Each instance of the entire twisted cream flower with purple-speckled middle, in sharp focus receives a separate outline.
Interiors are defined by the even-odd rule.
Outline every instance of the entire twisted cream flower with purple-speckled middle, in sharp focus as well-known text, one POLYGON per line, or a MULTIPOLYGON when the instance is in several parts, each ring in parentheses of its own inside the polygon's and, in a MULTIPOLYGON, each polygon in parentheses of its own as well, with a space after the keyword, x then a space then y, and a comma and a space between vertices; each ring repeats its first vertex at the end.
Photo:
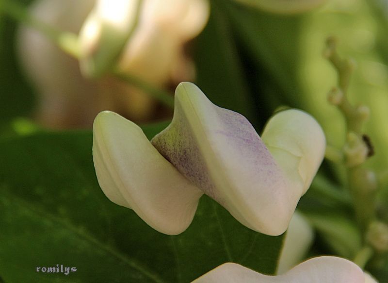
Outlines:
POLYGON ((113 202, 133 208, 162 233, 186 229, 205 193, 243 225, 279 235, 323 160, 325 138, 318 123, 299 110, 276 114, 267 127, 263 139, 268 137, 276 149, 275 158, 245 117, 214 105, 193 83, 181 83, 173 120, 152 139, 155 148, 130 121, 111 112, 97 116, 93 156, 98 182, 113 202), (279 115, 287 119, 283 128, 279 115), (318 153, 303 156, 311 153, 311 143, 318 153), (291 162, 293 171, 282 165, 291 162), (155 206, 163 207, 164 214, 157 215, 155 206), (169 218, 175 214, 185 217, 169 218), (152 220, 156 216, 160 221, 152 220))

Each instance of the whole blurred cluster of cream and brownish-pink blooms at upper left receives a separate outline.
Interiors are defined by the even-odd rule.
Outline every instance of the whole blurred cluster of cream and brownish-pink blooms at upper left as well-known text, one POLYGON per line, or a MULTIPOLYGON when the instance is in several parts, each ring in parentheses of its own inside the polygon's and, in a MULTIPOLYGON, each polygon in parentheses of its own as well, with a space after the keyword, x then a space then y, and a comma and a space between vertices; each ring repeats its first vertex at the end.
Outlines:
POLYGON ((97 76, 93 73, 96 68, 101 75, 117 66, 159 87, 193 79, 194 67, 183 47, 206 25, 210 13, 207 0, 169 0, 169 4, 143 0, 137 14, 138 2, 33 3, 32 16, 49 26, 76 34, 83 27, 79 40, 83 74, 79 62, 44 35, 26 26, 20 29, 18 53, 39 93, 37 119, 42 124, 55 128, 91 126, 102 110, 119 112, 139 122, 152 117, 155 100, 109 74, 90 79, 97 76))

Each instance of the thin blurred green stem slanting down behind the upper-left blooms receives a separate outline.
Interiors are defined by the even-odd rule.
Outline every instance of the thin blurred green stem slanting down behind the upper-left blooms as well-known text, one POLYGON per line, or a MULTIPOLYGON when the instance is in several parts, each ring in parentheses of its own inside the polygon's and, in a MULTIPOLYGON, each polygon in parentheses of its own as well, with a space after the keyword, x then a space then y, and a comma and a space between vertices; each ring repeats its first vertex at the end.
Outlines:
MULTIPOLYGON (((29 11, 17 1, 1 0, 0 9, 0 12, 5 13, 16 21, 25 23, 45 35, 67 54, 76 59, 80 58, 80 48, 77 34, 57 30, 39 19, 32 17, 29 11)), ((174 98, 167 91, 150 85, 133 75, 124 74, 118 69, 114 69, 112 73, 115 77, 138 87, 154 99, 159 100, 162 104, 174 109, 174 98)))

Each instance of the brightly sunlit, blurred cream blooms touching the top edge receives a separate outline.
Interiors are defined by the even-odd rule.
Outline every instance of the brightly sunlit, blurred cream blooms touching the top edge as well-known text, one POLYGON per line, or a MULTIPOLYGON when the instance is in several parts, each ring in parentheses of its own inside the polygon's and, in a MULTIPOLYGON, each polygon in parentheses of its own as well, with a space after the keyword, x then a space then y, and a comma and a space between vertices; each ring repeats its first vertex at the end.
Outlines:
POLYGON ((202 31, 207 0, 97 0, 80 33, 81 67, 99 76, 116 64, 160 84, 183 60, 183 45, 202 31))

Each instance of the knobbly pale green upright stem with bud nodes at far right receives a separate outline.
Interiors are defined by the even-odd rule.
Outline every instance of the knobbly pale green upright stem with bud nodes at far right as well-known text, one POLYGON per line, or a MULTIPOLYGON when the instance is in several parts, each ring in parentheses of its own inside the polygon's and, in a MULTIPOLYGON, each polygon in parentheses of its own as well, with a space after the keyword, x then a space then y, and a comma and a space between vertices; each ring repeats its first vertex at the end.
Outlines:
MULTIPOLYGON (((338 88, 331 91, 329 100, 339 107, 346 120, 348 141, 343 154, 347 164, 348 187, 358 224, 365 234, 369 223, 376 218, 375 195, 377 190, 374 172, 363 166, 369 155, 369 149, 364 142, 362 127, 368 118, 369 109, 366 106, 354 107, 347 99, 347 90, 355 63, 352 60, 341 59, 337 53, 336 44, 335 38, 329 37, 324 52, 327 59, 337 69, 339 78, 338 88)), ((329 157, 333 156, 330 148, 328 153, 329 157)))

